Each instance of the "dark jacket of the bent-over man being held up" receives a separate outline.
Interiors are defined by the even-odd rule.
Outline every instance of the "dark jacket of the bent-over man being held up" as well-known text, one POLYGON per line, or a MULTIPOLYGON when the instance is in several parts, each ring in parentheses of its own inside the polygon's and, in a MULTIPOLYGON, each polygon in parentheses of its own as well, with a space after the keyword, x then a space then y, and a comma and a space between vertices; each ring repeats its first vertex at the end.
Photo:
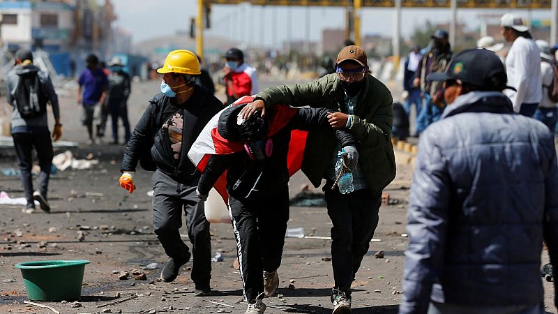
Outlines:
MULTIPOLYGON (((229 108, 219 117, 218 132, 227 140, 239 141, 239 137, 234 135, 236 126, 232 126, 232 124, 236 124, 236 114, 242 107, 243 106, 229 108)), ((289 182, 287 152, 291 140, 291 131, 295 129, 324 129, 325 132, 331 133, 330 135, 334 138, 335 134, 337 134, 337 138, 342 147, 349 145, 356 147, 356 141, 352 135, 344 131, 335 131, 329 126, 327 119, 328 112, 329 110, 325 108, 297 108, 296 114, 294 114, 288 123, 277 133, 269 137, 273 141, 273 152, 271 156, 266 158, 262 163, 250 160, 246 151, 239 151, 228 155, 212 155, 206 165, 204 174, 202 174, 202 178, 199 179, 199 192, 202 194, 209 193, 209 190, 211 190, 218 177, 220 177, 225 170, 228 170, 227 193, 236 200, 246 200, 247 193, 243 190, 234 190, 232 186, 246 170, 250 169, 250 167, 259 167, 256 174, 259 174, 260 171, 262 172, 262 178, 255 187, 258 190, 257 193, 254 193, 256 196, 255 198, 273 195, 280 188, 286 187, 289 182), (255 163, 260 164, 255 165, 255 163)), ((269 109, 266 116, 273 117, 273 108, 269 109)), ((252 186, 254 181, 255 180, 252 178, 250 186, 252 186)))

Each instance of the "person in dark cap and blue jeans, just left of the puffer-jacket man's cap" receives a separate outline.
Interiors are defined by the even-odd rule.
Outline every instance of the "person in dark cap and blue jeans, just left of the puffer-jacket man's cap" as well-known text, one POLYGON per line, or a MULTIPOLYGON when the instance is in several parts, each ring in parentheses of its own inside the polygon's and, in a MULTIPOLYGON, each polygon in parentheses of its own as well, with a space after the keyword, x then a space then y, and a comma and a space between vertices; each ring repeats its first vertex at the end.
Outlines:
POLYGON ((416 117, 416 136, 426 127, 438 121, 444 112, 446 103, 442 94, 442 86, 438 82, 428 82, 428 74, 446 69, 453 52, 448 42, 448 32, 437 29, 432 34, 434 45, 418 63, 413 80, 413 87, 420 87, 423 91, 425 104, 416 117))

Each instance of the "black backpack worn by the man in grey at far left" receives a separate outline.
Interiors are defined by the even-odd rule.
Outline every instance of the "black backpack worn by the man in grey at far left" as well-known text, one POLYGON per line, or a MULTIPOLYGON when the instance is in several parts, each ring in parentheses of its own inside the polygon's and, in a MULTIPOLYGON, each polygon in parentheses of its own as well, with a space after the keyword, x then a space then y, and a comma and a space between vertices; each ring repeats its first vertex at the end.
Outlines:
POLYGON ((47 96, 38 73, 33 71, 18 75, 20 82, 17 84, 13 98, 20 116, 23 119, 43 116, 47 112, 47 96))

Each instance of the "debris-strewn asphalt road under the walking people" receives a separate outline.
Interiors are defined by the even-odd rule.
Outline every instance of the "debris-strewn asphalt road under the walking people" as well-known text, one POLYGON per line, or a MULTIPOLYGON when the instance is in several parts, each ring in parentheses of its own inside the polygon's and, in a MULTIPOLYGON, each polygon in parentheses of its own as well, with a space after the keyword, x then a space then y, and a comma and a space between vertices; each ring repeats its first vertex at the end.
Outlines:
MULTIPOLYGON (((274 82, 262 82, 262 87, 274 82)), ((140 118, 147 101, 158 91, 158 82, 137 83, 129 102, 130 122, 140 118)), ((182 268, 173 283, 157 281, 167 256, 151 228, 150 172, 135 175, 137 190, 128 194, 119 187, 119 164, 122 146, 84 144, 85 129, 80 125, 80 107, 75 104, 75 91, 61 96, 63 140, 80 143, 73 150, 77 158, 90 156, 99 161, 89 170, 58 172, 50 184, 52 213, 40 210, 23 214, 21 206, 0 205, 0 313, 52 313, 52 311, 23 304, 27 299, 22 276, 13 267, 19 262, 34 260, 91 261, 86 265, 81 307, 71 303, 39 302, 52 306, 61 313, 96 313, 110 309, 112 313, 142 313, 156 310, 167 313, 243 313, 242 283, 239 271, 232 267, 236 257, 236 244, 232 227, 227 224, 211 225, 211 244, 214 253, 220 252, 224 260, 213 262, 212 297, 193 297, 190 266, 182 268), (80 232, 84 239, 80 241, 80 232), (157 269, 142 269, 157 263, 157 269), (133 269, 144 272, 146 280, 128 278, 119 280, 113 271, 133 269), (123 301, 139 294, 140 297, 123 301), (119 304, 104 306, 113 301, 119 304), (211 303, 218 302, 227 306, 211 303)), ((218 95, 223 98, 223 95, 218 95)), ((109 132, 110 133, 110 132, 109 132)), ((2 169, 16 167, 15 158, 4 151, 0 159, 2 169)), ((397 313, 400 303, 403 251, 407 246, 405 222, 408 188, 412 167, 398 165, 398 175, 385 190, 393 204, 382 205, 379 225, 370 251, 354 282, 353 313, 397 313), (375 258, 377 251, 384 258, 375 258)), ((303 175, 296 174, 290 183, 295 195, 306 184, 303 175)), ((12 197, 22 196, 19 177, 0 174, 0 190, 12 197)), ((331 222, 323 207, 292 207, 289 227, 303 227, 307 236, 329 237, 331 222)), ((183 227, 182 234, 186 234, 183 227)), ((187 240, 187 239, 185 239, 187 240)), ((188 242, 187 242, 188 243, 188 242)), ((331 255, 327 239, 287 238, 282 266, 279 269, 278 294, 265 300, 266 313, 331 313, 329 295, 333 285, 331 255), (289 289, 289 283, 294 288, 289 289)), ((545 260, 548 260, 543 253, 545 260)), ((131 276, 130 276, 131 277, 131 276)), ((65 280, 63 275, 60 280, 65 280)), ((552 306, 552 283, 544 283, 547 291, 545 304, 552 306)))

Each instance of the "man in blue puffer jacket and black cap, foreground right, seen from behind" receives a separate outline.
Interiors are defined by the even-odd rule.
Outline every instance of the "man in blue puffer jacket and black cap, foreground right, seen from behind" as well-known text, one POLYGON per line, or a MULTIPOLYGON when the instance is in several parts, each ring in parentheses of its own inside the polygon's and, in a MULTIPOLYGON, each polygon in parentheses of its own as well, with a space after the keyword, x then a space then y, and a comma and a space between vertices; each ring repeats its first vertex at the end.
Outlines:
POLYGON ((418 144, 399 313, 543 314, 543 240, 558 267, 552 135, 513 112, 493 52, 460 52, 428 80, 448 107, 418 144))

